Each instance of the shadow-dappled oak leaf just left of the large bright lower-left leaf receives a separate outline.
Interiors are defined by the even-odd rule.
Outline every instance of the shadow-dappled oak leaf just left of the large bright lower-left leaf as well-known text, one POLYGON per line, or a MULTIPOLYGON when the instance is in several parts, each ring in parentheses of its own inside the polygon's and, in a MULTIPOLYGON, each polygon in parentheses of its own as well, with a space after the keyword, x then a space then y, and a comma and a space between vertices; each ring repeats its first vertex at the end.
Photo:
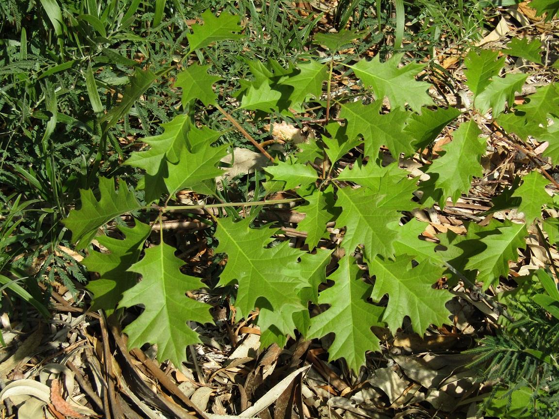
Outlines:
POLYGON ((98 236, 97 241, 109 253, 91 252, 82 261, 89 272, 99 273, 99 279, 89 281, 86 288, 93 293, 92 310, 105 310, 107 316, 115 311, 122 293, 134 287, 138 275, 127 270, 138 261, 151 226, 135 220, 135 226, 117 226, 124 239, 98 236))

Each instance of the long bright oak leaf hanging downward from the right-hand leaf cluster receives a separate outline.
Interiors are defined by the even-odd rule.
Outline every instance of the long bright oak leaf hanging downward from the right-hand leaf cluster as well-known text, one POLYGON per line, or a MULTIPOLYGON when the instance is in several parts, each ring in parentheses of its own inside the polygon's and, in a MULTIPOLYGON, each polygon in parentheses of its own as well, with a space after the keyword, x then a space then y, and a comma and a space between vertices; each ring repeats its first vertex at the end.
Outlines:
POLYGON ((439 156, 428 166, 431 176, 423 182, 425 191, 433 196, 435 189, 440 189, 438 202, 444 207, 447 197, 456 202, 460 195, 470 189, 473 177, 481 177, 481 156, 485 153, 486 140, 480 138, 480 128, 475 121, 462 123, 452 136, 452 141, 444 145, 446 153, 439 156), (459 162, 459 164, 458 164, 459 162))

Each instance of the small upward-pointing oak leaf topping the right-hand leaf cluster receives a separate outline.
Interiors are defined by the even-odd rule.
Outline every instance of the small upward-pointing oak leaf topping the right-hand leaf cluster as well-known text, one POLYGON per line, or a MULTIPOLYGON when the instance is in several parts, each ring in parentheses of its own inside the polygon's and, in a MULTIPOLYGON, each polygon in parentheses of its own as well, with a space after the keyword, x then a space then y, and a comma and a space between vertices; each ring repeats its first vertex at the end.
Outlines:
POLYGON ((498 51, 480 50, 477 53, 470 50, 466 55, 466 67, 464 74, 468 81, 466 85, 476 96, 484 91, 491 83, 491 78, 499 75, 501 68, 505 65, 505 58, 498 58, 498 51))

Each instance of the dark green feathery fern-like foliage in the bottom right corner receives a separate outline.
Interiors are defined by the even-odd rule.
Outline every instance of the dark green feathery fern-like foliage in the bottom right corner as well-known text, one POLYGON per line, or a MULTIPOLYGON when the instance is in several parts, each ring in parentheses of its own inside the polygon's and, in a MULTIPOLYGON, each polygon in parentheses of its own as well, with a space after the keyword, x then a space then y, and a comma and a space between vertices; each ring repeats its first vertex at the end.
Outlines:
POLYGON ((505 323, 495 336, 484 337, 468 351, 477 355, 469 365, 478 371, 477 379, 492 385, 480 408, 503 418, 557 418, 559 319, 532 296, 517 294, 506 299, 517 321, 505 323))

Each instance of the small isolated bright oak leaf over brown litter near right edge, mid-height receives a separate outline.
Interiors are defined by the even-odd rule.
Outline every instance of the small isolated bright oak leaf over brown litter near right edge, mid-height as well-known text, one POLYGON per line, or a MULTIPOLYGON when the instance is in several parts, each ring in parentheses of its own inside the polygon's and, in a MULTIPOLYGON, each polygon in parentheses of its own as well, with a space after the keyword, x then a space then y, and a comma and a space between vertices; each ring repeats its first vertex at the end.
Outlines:
POLYGON ((553 204, 553 199, 546 192, 549 180, 541 173, 533 170, 522 180, 522 185, 514 191, 512 198, 522 199, 518 211, 524 213, 526 224, 530 225, 536 218, 542 217, 542 206, 553 204))

